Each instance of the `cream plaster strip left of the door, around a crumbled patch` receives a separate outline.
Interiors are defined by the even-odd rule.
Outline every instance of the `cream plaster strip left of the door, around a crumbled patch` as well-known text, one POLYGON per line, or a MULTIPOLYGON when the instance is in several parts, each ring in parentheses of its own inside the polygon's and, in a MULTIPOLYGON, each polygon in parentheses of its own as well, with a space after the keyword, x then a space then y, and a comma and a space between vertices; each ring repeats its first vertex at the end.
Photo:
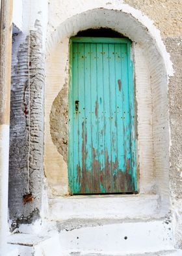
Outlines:
MULTIPOLYGON (((46 86, 45 86, 45 155, 44 167, 45 176, 49 181, 50 193, 52 195, 64 195, 68 193, 68 171, 63 153, 60 155, 57 141, 62 138, 62 127, 66 125, 66 120, 62 122, 54 119, 54 116, 62 116, 62 105, 68 106, 68 39, 64 39, 53 50, 51 56, 46 61, 46 86), (61 57, 60 57, 61 56, 61 57), (64 99, 59 99, 60 91, 66 86, 64 99), (51 122, 50 123, 50 118, 51 122), (50 125, 55 126, 55 144, 53 143, 50 125), (61 133, 60 133, 61 131, 61 133), (60 135, 60 136, 59 136, 60 135), (61 137, 61 138, 60 138, 61 137)), ((61 93, 60 93, 61 94, 61 93)), ((68 109, 68 107, 67 107, 68 109)), ((63 118, 63 116, 62 116, 63 118)), ((66 117, 65 117, 66 118, 66 117)), ((67 127, 66 127, 67 135, 67 127)), ((66 145, 65 145, 66 146, 66 145)), ((67 147, 66 147, 67 148, 67 147)), ((64 150, 66 152, 66 149, 64 150)))

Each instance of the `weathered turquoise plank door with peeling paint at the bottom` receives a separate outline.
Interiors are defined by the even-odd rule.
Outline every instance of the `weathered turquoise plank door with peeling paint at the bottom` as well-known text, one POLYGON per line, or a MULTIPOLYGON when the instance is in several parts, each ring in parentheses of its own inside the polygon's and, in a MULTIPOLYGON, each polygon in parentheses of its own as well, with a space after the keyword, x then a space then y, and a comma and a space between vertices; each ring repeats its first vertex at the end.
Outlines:
POLYGON ((68 178, 71 194, 135 193, 131 42, 70 42, 68 178))

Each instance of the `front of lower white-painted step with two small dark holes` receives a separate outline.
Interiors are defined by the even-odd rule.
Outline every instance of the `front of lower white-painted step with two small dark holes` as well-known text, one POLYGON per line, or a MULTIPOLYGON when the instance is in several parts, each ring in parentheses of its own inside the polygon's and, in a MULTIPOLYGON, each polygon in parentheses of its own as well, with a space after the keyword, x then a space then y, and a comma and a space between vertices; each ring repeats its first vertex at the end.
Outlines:
POLYGON ((140 255, 174 250, 172 224, 166 219, 128 222, 74 219, 57 226, 62 255, 65 256, 140 255))

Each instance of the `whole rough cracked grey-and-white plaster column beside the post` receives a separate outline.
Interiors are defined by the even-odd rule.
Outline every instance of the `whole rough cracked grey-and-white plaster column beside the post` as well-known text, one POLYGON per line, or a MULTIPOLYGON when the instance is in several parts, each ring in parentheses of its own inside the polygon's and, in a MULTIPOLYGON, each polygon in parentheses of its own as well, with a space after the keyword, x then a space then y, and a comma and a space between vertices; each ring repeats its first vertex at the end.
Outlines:
MULTIPOLYGON (((21 41, 14 37, 14 44, 21 41)), ((44 54, 42 27, 22 40, 12 62, 10 116, 9 210, 19 223, 40 217, 44 175, 44 54)))

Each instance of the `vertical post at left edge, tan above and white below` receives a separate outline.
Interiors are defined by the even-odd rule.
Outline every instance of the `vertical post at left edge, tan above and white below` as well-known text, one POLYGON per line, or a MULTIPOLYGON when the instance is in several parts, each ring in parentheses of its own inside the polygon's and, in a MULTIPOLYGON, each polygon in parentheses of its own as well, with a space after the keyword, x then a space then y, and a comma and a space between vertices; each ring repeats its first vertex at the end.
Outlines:
POLYGON ((5 255, 4 249, 8 233, 12 0, 1 0, 0 46, 0 255, 5 255))

